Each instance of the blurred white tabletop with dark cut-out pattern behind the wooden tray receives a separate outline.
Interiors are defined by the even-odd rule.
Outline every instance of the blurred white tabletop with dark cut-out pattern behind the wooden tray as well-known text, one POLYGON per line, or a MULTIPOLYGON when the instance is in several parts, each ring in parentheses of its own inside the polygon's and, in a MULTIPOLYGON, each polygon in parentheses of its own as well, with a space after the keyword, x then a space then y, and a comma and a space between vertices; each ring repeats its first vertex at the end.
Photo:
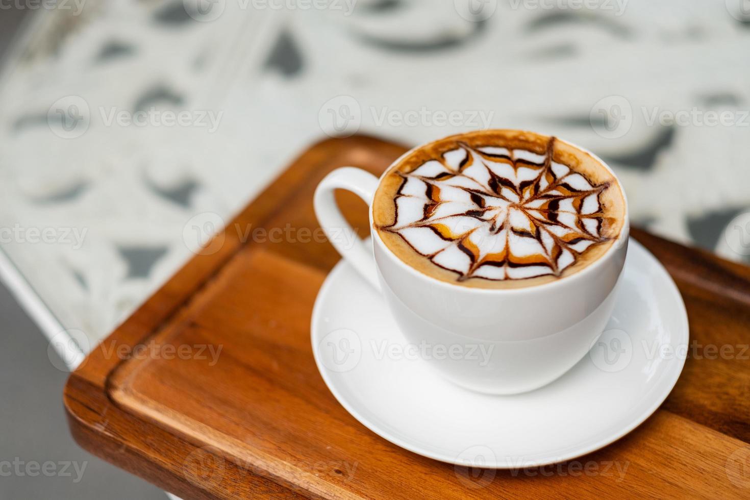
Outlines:
POLYGON ((0 245, 90 348, 311 142, 508 127, 607 160, 634 224, 750 262, 743 7, 60 1, 0 75, 0 227, 55 238, 0 245))

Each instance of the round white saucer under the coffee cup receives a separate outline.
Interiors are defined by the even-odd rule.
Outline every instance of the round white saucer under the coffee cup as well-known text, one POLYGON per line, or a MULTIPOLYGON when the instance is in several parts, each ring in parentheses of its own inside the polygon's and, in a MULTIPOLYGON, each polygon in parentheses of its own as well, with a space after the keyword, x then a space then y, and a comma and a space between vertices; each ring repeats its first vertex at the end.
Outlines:
POLYGON ((416 358, 379 292, 344 261, 315 302, 313 352, 348 412, 416 454, 497 469, 570 460, 646 420, 685 363, 685 304, 667 271, 632 239, 619 286, 607 330, 589 355, 526 394, 489 396, 442 379, 416 358))

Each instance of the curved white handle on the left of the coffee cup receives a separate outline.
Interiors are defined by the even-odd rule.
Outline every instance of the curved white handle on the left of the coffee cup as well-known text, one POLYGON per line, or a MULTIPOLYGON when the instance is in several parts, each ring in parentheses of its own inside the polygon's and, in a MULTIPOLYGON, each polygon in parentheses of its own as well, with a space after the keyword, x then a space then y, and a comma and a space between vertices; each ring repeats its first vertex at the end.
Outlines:
POLYGON ((362 198, 369 208, 378 182, 378 178, 370 172, 353 166, 335 169, 326 175, 315 189, 314 206, 320 227, 338 253, 341 253, 368 283, 380 290, 373 252, 344 219, 334 198, 335 190, 345 189, 362 198))

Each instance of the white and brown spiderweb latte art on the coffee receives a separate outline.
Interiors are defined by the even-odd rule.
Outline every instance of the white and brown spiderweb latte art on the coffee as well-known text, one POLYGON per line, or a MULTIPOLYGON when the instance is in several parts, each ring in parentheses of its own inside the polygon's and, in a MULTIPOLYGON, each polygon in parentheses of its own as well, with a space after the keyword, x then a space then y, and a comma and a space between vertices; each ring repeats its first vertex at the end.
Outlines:
POLYGON ((611 182, 596 184, 553 160, 555 141, 547 140, 544 154, 457 142, 399 171, 394 222, 381 231, 459 282, 560 277, 612 240, 601 199, 611 182))

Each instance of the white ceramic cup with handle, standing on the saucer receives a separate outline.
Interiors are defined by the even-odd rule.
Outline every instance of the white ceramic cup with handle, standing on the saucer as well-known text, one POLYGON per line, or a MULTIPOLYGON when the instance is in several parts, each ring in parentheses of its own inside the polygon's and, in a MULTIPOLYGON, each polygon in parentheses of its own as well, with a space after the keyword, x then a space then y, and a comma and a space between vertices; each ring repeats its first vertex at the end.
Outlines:
POLYGON ((372 210, 382 179, 350 166, 336 169, 315 191, 315 213, 341 256, 383 292, 407 340, 443 353, 425 361, 446 379, 489 394, 531 391, 557 379, 589 352, 610 318, 625 264, 626 200, 619 237, 586 268, 536 286, 480 289, 422 274, 386 247, 374 229, 372 210), (354 232, 336 205, 337 189, 352 191, 368 204, 372 248, 359 238, 341 237, 354 232))

